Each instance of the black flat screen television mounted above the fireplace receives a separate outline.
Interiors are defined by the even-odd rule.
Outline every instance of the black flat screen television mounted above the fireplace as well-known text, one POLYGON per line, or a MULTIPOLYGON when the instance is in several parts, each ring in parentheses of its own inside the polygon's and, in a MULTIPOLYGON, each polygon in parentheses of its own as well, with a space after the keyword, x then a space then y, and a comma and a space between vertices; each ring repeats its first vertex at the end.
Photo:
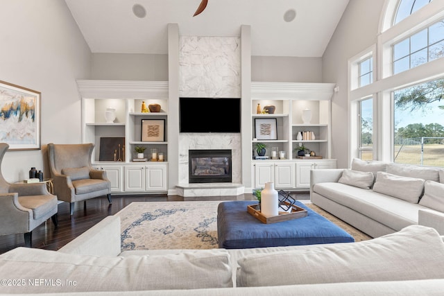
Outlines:
POLYGON ((180 132, 241 132, 240 98, 179 98, 180 132))

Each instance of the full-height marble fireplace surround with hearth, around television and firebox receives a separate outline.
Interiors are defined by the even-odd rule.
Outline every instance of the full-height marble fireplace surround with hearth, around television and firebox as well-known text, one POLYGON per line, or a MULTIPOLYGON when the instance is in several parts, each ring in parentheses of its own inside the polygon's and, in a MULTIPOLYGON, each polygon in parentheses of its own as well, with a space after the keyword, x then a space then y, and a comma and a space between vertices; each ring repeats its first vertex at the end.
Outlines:
MULTIPOLYGON (((181 36, 179 38, 180 97, 239 98, 241 97, 240 73, 239 37, 181 36)), ((229 120, 229 116, 227 118, 229 120)), ((178 143, 179 195, 244 193, 243 187, 239 186, 242 175, 240 133, 180 133, 178 143), (189 184, 188 150, 205 149, 232 150, 232 183, 189 184), (188 193, 183 192, 188 189, 188 193)))

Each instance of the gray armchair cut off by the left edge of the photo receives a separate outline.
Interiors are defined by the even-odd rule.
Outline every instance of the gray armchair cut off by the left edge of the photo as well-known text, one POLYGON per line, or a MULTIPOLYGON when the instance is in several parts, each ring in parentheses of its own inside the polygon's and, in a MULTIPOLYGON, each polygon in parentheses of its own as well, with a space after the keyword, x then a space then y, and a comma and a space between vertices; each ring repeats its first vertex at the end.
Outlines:
MULTIPOLYGON (((8 148, 7 143, 0 143, 0 164, 8 148)), ((35 227, 49 218, 58 226, 57 204, 46 184, 10 184, 0 171, 0 235, 23 233, 25 246, 31 247, 35 227)))

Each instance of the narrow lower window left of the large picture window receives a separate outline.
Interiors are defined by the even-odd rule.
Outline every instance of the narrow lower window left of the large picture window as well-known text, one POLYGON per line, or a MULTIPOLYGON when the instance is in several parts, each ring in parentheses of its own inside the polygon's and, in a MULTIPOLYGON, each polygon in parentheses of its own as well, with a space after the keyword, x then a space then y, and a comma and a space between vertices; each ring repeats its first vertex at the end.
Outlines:
POLYGON ((373 159, 373 98, 359 101, 359 158, 373 159))

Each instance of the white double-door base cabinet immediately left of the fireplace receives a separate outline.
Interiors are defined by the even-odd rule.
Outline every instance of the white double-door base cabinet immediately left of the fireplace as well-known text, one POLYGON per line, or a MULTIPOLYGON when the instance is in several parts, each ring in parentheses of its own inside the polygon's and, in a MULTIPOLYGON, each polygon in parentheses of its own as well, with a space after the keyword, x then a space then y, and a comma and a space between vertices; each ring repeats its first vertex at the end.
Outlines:
POLYGON ((125 166, 125 191, 167 191, 167 164, 125 166))

